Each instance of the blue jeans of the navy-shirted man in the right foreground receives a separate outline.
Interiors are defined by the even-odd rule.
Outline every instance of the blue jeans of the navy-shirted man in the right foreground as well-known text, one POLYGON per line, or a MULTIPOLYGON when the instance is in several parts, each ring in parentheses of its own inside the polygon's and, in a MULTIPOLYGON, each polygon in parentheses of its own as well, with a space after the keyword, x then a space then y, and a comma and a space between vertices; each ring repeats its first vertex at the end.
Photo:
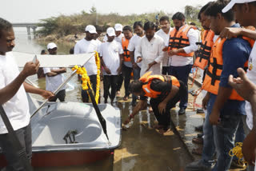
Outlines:
POLYGON ((232 157, 230 157, 230 149, 234 148, 234 136, 237 132, 238 125, 242 121, 242 114, 229 113, 222 115, 218 125, 214 125, 214 144, 217 149, 218 161, 214 165, 214 171, 227 171, 230 169, 232 157))

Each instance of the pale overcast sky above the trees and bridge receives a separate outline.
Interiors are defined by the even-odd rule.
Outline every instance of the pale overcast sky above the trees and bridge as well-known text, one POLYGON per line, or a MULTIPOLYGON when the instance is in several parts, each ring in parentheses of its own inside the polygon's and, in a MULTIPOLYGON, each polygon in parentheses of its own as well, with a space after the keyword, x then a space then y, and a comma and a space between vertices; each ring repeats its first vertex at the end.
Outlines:
POLYGON ((89 12, 95 6, 98 13, 142 14, 163 10, 184 11, 184 6, 205 5, 209 0, 1 0, 0 17, 10 22, 39 22, 59 14, 89 12))

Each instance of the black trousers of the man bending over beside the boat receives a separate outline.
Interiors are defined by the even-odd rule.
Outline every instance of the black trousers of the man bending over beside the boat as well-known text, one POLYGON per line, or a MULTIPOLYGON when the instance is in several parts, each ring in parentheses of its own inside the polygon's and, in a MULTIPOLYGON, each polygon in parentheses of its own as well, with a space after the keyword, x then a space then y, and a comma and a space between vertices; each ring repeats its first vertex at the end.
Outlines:
POLYGON ((159 125, 163 125, 164 129, 168 129, 170 126, 170 109, 174 108, 176 103, 181 100, 181 97, 187 94, 186 85, 180 82, 180 88, 178 90, 178 93, 168 101, 166 105, 166 112, 165 113, 159 113, 158 105, 163 101, 163 99, 159 98, 151 98, 150 99, 150 105, 153 109, 154 116, 158 120, 159 125))

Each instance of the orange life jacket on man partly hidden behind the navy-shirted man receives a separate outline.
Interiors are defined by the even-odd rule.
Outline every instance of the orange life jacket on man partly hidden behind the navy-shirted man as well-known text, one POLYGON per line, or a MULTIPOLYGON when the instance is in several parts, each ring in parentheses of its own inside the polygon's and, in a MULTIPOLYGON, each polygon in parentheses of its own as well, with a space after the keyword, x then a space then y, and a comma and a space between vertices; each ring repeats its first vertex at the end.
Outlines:
POLYGON ((195 59, 194 66, 198 66, 202 70, 206 69, 212 46, 214 46, 214 31, 204 30, 202 34, 202 44, 198 51, 198 57, 195 59))

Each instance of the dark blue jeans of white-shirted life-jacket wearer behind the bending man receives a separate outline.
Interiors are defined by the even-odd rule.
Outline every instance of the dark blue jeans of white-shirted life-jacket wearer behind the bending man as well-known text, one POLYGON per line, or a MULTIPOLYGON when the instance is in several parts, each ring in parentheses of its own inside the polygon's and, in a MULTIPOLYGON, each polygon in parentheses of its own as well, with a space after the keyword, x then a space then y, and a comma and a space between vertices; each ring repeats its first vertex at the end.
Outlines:
MULTIPOLYGON (((186 65, 186 66, 170 66, 170 75, 173 75, 178 80, 184 82, 187 89, 187 82, 190 74, 190 70, 192 68, 192 65, 186 65)), ((186 96, 181 97, 181 101, 179 103, 180 108, 185 108, 187 106, 188 101, 188 94, 186 96)))

